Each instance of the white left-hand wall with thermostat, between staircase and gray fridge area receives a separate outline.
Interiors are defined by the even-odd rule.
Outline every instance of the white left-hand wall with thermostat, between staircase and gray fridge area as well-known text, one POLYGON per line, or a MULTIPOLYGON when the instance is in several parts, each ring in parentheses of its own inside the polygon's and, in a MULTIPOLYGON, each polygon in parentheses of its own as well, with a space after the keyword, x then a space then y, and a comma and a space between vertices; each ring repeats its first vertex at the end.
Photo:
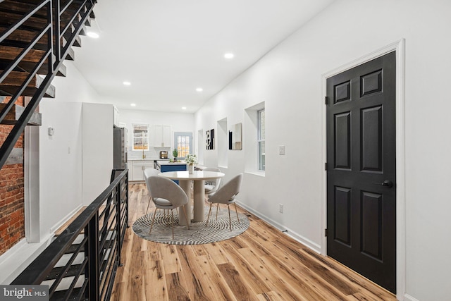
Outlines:
POLYGON ((54 99, 42 99, 39 111, 41 235, 55 228, 82 206, 82 102, 96 102, 97 92, 70 61, 67 76, 56 77, 54 99), (48 128, 55 135, 48 135, 48 128))

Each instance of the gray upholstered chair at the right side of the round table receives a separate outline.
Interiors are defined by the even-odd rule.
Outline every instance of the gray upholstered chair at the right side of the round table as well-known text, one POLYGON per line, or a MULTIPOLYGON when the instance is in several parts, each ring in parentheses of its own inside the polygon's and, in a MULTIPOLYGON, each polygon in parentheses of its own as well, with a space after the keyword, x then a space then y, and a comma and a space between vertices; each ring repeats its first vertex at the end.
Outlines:
MULTIPOLYGON (((228 221, 230 223, 230 231, 232 231, 232 219, 230 219, 230 204, 235 205, 235 211, 237 214, 238 222, 240 218, 238 217, 237 204, 235 203, 235 196, 240 192, 242 183, 242 173, 232 178, 228 183, 224 184, 216 192, 209 195, 208 201, 210 202, 209 215, 206 218, 206 226, 209 224, 209 219, 211 215, 211 204, 227 204, 228 207, 228 221)), ((216 209, 216 219, 218 219, 218 209, 216 209)))

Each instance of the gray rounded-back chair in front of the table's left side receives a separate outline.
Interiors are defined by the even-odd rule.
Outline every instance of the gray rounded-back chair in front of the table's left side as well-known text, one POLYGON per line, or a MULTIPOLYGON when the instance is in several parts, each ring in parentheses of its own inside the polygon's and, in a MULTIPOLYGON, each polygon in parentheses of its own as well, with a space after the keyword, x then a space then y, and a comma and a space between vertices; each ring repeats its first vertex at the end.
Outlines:
MULTIPOLYGON (((152 201, 155 204, 154 216, 152 217, 152 224, 150 225, 150 233, 152 233, 152 227, 154 226, 156 209, 170 209, 172 216, 172 238, 174 238, 174 214, 173 209, 178 207, 183 208, 183 213, 185 214, 185 219, 188 221, 186 210, 184 205, 188 204, 188 197, 180 188, 179 185, 175 184, 173 180, 168 178, 163 178, 160 176, 149 177, 150 191, 152 192, 152 201)), ((187 225, 188 229, 190 226, 187 225)))

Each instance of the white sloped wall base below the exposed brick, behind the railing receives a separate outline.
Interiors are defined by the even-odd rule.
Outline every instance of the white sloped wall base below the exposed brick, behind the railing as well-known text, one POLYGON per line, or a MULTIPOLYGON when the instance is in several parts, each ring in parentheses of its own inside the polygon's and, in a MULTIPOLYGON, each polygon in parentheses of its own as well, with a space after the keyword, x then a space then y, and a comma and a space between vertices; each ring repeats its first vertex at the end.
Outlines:
POLYGON ((0 256, 0 284, 10 284, 50 244, 53 235, 41 242, 27 242, 25 238, 0 256))

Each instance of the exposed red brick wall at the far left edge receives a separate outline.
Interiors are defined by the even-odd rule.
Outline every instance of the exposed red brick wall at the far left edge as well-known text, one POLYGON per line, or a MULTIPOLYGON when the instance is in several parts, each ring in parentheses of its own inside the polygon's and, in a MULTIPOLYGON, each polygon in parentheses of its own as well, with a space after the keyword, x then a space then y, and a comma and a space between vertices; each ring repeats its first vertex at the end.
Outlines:
MULTIPOLYGON (((23 105, 23 97, 16 104, 23 105)), ((8 102, 8 99, 4 99, 8 102)), ((13 125, 0 125, 0 145, 13 125)), ((23 149, 23 134, 15 147, 23 149)), ((0 169, 0 254, 25 237, 23 163, 4 165, 0 169)))

